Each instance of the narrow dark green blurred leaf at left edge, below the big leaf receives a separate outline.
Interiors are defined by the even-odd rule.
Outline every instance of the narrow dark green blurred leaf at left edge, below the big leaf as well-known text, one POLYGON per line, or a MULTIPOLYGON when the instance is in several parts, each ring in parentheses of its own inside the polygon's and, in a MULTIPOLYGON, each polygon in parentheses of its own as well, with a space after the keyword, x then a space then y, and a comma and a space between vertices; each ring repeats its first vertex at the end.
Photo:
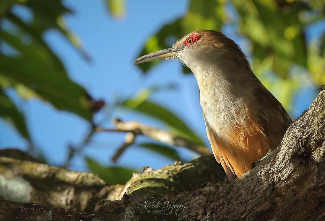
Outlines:
POLYGON ((0 117, 12 124, 25 139, 31 141, 25 117, 16 105, 1 91, 0 88, 0 117))

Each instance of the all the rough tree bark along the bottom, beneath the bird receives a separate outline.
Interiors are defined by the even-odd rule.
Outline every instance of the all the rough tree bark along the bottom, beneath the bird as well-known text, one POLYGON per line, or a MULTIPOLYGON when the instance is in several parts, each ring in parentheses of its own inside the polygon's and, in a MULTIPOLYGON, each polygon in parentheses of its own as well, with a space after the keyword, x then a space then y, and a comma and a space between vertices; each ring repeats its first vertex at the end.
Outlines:
POLYGON ((232 182, 224 181, 212 156, 159 170, 145 168, 124 186, 107 185, 89 173, 3 157, 0 220, 325 220, 324 157, 322 91, 291 124, 279 147, 232 182), (48 170, 34 174, 29 170, 37 169, 31 165, 48 170), (17 200, 19 193, 8 190, 12 180, 30 185, 25 203, 7 201, 17 200), (68 205, 67 194, 60 194, 69 188, 73 200, 68 205), (46 192, 58 194, 47 198, 46 192))

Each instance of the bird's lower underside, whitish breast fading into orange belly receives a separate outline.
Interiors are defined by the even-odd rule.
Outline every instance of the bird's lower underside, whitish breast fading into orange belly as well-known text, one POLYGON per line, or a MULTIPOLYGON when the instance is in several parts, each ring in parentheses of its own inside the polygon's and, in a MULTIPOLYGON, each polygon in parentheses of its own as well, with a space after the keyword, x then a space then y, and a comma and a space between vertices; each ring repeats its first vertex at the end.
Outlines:
POLYGON ((226 159, 234 174, 240 177, 267 153, 268 139, 251 118, 243 100, 217 101, 205 96, 200 98, 200 104, 207 127, 210 127, 208 137, 217 161, 226 159))

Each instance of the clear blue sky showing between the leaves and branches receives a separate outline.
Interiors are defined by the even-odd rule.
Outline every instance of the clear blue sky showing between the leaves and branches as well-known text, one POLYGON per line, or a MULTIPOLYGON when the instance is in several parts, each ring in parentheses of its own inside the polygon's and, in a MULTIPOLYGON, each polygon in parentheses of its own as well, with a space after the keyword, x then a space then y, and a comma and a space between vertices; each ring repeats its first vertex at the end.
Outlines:
MULTIPOLYGON (((58 32, 47 32, 45 40, 63 61, 71 79, 85 87, 93 97, 104 99, 108 104, 119 97, 133 96, 141 88, 176 83, 177 90, 155 93, 151 99, 176 113, 208 143, 199 105, 198 86, 194 76, 184 76, 181 72, 182 65, 177 61, 162 62, 153 68, 148 76, 142 76, 140 69, 133 65, 148 36, 154 34, 163 24, 183 16, 188 7, 188 1, 184 0, 157 3, 157 1, 150 0, 128 1, 126 18, 119 21, 109 15, 104 1, 65 1, 65 5, 74 11, 66 19, 70 28, 84 42, 86 51, 92 57, 91 63, 85 62, 58 32)), ((28 12, 21 8, 15 10, 28 19, 28 12)), ((316 29, 311 28, 307 38, 310 39, 317 34, 316 29)), ((229 37, 235 38, 245 50, 245 45, 243 45, 245 41, 235 34, 231 36, 233 33, 231 29, 225 31, 229 31, 229 37)), ((299 116, 302 110, 312 102, 313 96, 305 96, 305 94, 313 92, 301 92, 302 98, 295 102, 298 107, 296 116, 299 116), (306 97, 308 99, 304 99, 306 97), (301 99, 304 101, 301 102, 301 99)), ((10 94, 15 98, 13 92, 10 94)), ((57 111, 50 104, 40 100, 23 101, 17 97, 15 100, 27 116, 33 141, 45 154, 50 164, 61 165, 67 156, 67 146, 81 143, 89 129, 88 123, 71 113, 57 111)), ((101 120, 105 115, 105 111, 102 111, 96 116, 96 120, 101 120)), ((123 120, 138 120, 144 124, 166 128, 157 120, 125 110, 114 111, 102 126, 111 128, 110 120, 114 117, 120 117, 123 120)), ((90 156, 105 165, 113 165, 110 157, 122 144, 123 138, 124 134, 96 134, 83 153, 73 159, 70 168, 87 170, 84 163, 85 156, 90 156)), ((139 137, 137 141, 148 141, 148 139, 139 137)), ((24 149, 25 143, 14 129, 0 120, 0 148, 9 146, 24 149)), ((195 154, 183 148, 179 150, 185 159, 195 157, 195 154)), ((145 165, 160 168, 171 163, 173 163, 172 160, 158 154, 131 147, 116 165, 140 169, 145 165)))

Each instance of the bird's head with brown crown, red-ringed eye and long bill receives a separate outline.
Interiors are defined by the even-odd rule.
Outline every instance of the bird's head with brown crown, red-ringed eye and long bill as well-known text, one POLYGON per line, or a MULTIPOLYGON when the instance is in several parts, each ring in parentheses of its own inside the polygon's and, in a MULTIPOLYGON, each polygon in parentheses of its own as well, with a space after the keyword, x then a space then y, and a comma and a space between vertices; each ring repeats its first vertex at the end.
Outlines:
POLYGON ((239 46, 218 31, 197 30, 178 40, 173 47, 150 53, 136 59, 134 64, 163 58, 178 59, 194 73, 201 67, 215 65, 249 67, 239 46))

